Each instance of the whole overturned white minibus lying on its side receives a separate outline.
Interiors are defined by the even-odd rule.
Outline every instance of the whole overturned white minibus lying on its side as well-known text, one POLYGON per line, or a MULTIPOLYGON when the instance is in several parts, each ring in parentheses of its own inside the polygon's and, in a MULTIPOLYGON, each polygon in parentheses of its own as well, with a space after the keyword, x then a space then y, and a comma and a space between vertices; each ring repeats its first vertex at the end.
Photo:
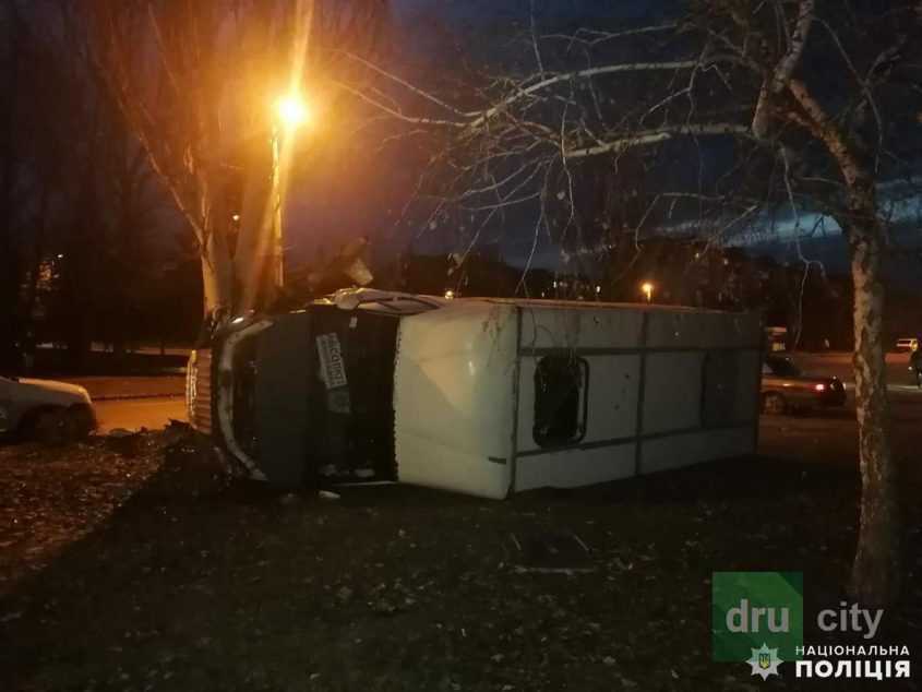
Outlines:
POLYGON ((349 289, 234 320, 189 415, 274 485, 504 498, 752 453, 762 347, 755 314, 349 289))

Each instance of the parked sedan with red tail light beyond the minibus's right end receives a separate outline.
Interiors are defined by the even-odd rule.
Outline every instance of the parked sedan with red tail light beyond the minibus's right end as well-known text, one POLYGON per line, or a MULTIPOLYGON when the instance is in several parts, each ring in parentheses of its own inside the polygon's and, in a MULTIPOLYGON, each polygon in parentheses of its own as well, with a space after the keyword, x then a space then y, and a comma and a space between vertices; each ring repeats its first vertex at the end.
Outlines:
POLYGON ((762 410, 786 414, 799 408, 843 406, 846 387, 838 378, 804 374, 787 356, 768 356, 762 366, 762 410))

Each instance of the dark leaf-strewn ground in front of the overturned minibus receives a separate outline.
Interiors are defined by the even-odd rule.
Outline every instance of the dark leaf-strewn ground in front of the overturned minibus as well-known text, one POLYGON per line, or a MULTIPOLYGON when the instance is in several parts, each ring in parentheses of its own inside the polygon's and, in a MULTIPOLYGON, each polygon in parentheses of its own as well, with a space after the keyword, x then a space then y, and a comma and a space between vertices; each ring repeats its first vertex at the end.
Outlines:
MULTIPOLYGON (((0 690, 811 689, 710 661, 711 572, 836 606, 857 499, 853 467, 775 456, 493 502, 273 493, 176 429, 0 448, 0 690)), ((878 642, 918 664, 913 578, 878 642)))

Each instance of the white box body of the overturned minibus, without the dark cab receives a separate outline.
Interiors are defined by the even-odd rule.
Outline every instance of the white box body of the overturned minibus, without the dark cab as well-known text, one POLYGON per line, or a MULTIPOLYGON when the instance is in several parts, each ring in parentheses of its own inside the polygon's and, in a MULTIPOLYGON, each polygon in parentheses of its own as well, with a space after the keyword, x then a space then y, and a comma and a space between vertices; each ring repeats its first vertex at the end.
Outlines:
POLYGON ((761 338, 753 314, 639 305, 469 299, 405 318, 399 480, 504 498, 751 454, 761 338), (587 373, 585 429, 560 444, 534 434, 546 358, 587 373))

